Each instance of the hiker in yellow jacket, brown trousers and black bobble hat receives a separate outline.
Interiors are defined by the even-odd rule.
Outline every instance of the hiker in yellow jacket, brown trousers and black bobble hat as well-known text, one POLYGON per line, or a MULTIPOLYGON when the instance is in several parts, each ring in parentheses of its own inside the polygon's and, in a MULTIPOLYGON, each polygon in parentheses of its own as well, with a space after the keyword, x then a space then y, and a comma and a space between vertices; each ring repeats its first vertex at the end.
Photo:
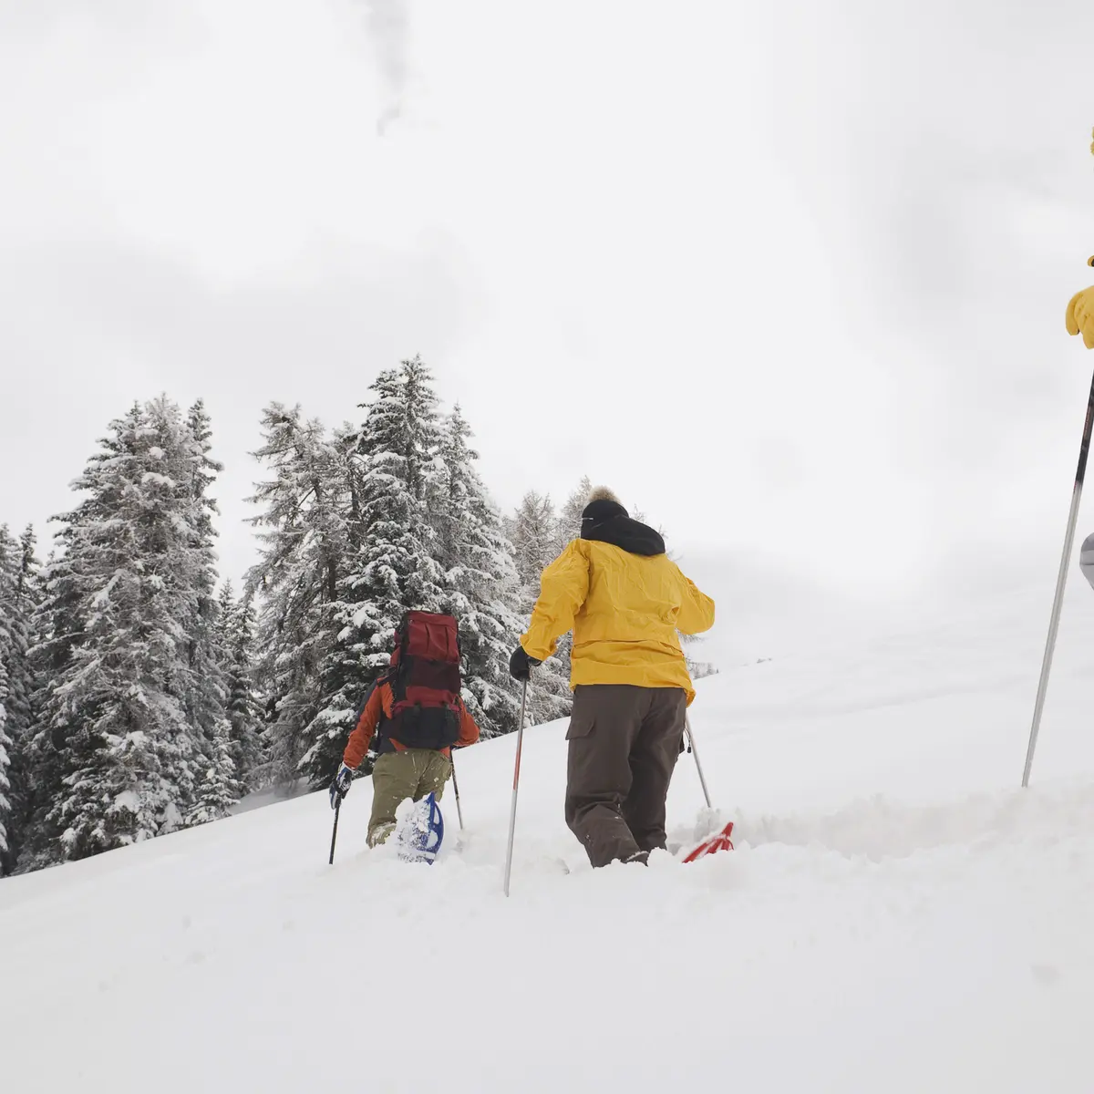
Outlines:
POLYGON ((645 862, 665 846, 665 799, 695 698, 678 631, 714 625, 714 602, 664 539, 597 487, 581 538, 544 570, 509 671, 526 680, 573 631, 566 823, 594 866, 645 862))

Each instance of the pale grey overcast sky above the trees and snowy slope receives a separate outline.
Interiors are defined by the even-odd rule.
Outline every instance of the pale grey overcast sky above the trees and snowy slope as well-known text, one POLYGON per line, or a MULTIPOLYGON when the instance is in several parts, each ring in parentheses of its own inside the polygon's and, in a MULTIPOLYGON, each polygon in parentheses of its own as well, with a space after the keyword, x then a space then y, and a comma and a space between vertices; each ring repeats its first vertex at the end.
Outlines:
POLYGON ((1050 585, 1092 42, 1090 0, 0 0, 0 521, 201 396, 238 577, 261 407, 357 420, 420 352, 507 508, 589 474, 732 590, 1050 585))

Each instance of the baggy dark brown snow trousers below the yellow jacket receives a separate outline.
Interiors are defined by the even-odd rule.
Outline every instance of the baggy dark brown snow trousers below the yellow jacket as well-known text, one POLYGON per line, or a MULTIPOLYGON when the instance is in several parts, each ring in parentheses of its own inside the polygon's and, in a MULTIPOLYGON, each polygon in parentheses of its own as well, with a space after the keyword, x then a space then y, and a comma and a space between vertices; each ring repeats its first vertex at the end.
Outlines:
POLYGON ((686 708, 683 688, 574 689, 566 734, 566 823, 594 866, 665 846, 665 799, 686 708))

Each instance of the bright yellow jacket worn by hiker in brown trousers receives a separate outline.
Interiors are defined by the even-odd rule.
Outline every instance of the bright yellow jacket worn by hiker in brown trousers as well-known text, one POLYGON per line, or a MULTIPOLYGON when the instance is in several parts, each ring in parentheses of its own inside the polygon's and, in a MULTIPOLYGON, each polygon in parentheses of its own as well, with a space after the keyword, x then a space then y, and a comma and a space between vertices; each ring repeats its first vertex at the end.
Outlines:
POLYGON ((539 579, 539 598, 521 645, 544 661, 573 630, 570 687, 636 684, 695 688, 677 631, 714 625, 714 602, 667 555, 632 555, 613 544, 574 539, 539 579))

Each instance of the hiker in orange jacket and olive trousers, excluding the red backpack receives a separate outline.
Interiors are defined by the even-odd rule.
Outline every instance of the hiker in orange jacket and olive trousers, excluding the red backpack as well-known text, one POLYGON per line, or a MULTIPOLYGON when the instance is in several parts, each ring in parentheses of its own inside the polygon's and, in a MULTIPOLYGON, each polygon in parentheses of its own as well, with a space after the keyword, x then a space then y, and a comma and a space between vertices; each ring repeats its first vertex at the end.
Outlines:
MULTIPOLYGON (((407 798, 418 802, 429 793, 441 799, 444 784, 452 776, 451 748, 408 748, 385 732, 395 701, 392 686, 381 678, 369 688, 357 725, 342 754, 342 765, 330 785, 330 804, 335 796, 345 798, 374 736, 379 734, 379 756, 372 768, 372 814, 369 817, 369 847, 383 843, 395 829, 395 811, 407 798)), ((479 729, 459 701, 459 738, 455 747, 464 748, 479 738, 479 729)))

